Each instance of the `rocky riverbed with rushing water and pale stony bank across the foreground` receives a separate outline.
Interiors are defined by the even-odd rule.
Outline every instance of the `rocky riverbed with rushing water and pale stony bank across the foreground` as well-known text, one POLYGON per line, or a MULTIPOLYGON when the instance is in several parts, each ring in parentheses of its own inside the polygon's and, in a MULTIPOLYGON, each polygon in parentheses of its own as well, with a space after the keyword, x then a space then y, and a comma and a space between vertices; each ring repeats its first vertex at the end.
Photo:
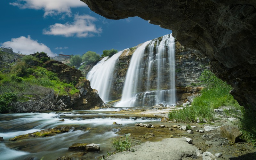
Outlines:
MULTIPOLYGON (((212 124, 183 124, 167 119, 168 111, 174 108, 108 108, 1 114, 0 136, 4 141, 0 143, 0 150, 3 159, 56 159, 60 156, 71 159, 99 159, 103 155, 106 157, 107 152, 115 151, 112 146, 113 138, 128 134, 132 145, 135 145, 134 152, 117 153, 117 159, 121 155, 132 159, 141 159, 141 156, 148 159, 202 159, 200 152, 207 151, 216 159, 255 158, 256 150, 251 145, 241 139, 234 143, 220 136, 220 126, 226 124, 233 127, 231 121, 236 121, 232 117, 223 116, 221 109, 216 111, 218 118, 212 124), (188 125, 193 133, 186 131, 189 129, 186 127, 188 125), (196 132, 197 130, 200 132, 196 132), (44 134, 45 131, 47 134, 44 134), (28 133, 34 133, 35 136, 28 133), (214 136, 206 136, 212 133, 215 133, 214 136), (28 136, 19 136, 23 134, 28 136), (16 140, 9 140, 15 137, 16 140), (184 137, 191 139, 192 141, 188 140, 191 144, 184 137), (68 150, 73 144, 79 143, 96 145, 100 151, 68 150), (220 158, 215 156, 218 153, 222 153, 220 158)), ((116 159, 115 155, 108 159, 116 159)))

